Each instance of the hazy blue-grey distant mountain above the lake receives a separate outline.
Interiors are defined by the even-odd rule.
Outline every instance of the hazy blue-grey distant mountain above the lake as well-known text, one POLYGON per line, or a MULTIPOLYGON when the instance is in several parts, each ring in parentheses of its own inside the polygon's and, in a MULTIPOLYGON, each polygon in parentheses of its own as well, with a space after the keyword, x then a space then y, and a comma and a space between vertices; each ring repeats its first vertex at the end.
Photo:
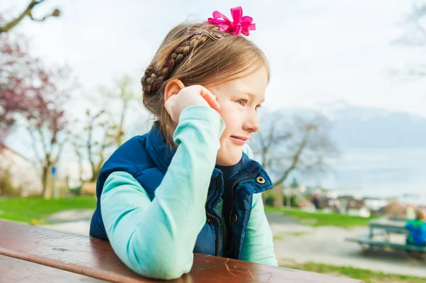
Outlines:
MULTIPOLYGON (((284 110, 302 115, 317 111, 284 110)), ((327 105, 320 112, 333 122, 339 148, 426 148, 425 117, 346 104, 327 105)))

